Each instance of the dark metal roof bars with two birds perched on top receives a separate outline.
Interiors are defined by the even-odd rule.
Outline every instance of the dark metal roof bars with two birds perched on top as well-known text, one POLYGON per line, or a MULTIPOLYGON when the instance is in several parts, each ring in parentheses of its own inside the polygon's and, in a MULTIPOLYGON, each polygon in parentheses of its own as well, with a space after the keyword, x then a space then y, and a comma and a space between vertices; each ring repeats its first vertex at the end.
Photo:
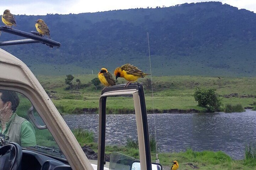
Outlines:
POLYGON ((42 35, 40 35, 39 33, 35 32, 35 31, 31 31, 31 33, 28 33, 28 32, 24 32, 24 31, 21 31, 21 30, 9 28, 9 27, 6 27, 6 26, 0 26, 0 36, 1 36, 2 32, 7 32, 7 33, 14 34, 14 35, 17 35, 17 36, 22 36, 22 37, 25 37, 25 38, 28 38, 28 39, 2 41, 2 42, 0 42, 0 46, 29 44, 29 43, 41 42, 43 44, 46 44, 50 48, 53 48, 53 47, 59 48, 60 47, 59 42, 53 41, 52 39, 45 38, 45 37, 43 37, 42 35))

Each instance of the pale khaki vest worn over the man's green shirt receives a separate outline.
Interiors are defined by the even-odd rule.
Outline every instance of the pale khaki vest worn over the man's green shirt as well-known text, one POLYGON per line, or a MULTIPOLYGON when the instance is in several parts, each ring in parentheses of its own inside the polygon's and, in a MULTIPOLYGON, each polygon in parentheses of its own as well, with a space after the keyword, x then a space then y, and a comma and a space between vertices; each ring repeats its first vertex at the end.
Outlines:
POLYGON ((8 141, 15 142, 21 145, 21 124, 26 121, 23 117, 14 115, 14 119, 11 121, 8 131, 5 136, 8 136, 8 141))

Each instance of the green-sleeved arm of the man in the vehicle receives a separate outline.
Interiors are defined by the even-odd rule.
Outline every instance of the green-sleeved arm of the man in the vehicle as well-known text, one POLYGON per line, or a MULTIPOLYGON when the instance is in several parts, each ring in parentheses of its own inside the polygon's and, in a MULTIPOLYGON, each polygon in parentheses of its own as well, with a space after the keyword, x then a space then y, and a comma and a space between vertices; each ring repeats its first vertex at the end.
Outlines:
POLYGON ((35 129, 27 120, 21 124, 21 146, 35 146, 37 145, 35 129))

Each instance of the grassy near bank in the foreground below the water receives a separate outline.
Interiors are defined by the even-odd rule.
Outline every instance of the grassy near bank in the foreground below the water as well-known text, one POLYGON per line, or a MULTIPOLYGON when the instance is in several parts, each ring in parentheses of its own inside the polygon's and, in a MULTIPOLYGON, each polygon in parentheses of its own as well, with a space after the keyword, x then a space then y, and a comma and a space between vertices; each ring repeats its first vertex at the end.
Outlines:
MULTIPOLYGON (((88 159, 97 160, 97 144, 92 143, 88 146, 82 147, 88 159), (91 148, 94 149, 91 149, 91 148)), ((105 149, 105 161, 109 162, 110 154, 112 152, 119 152, 127 156, 139 159, 139 150, 134 148, 129 148, 125 146, 106 146, 105 149)), ((151 153, 152 162, 156 160, 156 153, 151 153)), ((171 170, 171 165, 174 160, 178 161, 180 170, 187 169, 223 169, 223 170, 233 170, 233 169, 243 169, 252 170, 256 168, 256 159, 241 159, 233 160, 230 156, 222 151, 202 151, 197 152, 192 149, 187 149, 184 152, 177 153, 159 153, 158 159, 160 164, 163 166, 164 170, 171 170)))

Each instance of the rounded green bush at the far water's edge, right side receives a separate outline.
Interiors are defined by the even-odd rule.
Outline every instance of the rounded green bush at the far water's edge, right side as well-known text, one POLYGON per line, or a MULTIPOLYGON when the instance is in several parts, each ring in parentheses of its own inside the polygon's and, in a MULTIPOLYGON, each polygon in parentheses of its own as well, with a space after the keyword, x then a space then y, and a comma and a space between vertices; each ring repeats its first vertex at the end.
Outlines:
POLYGON ((194 98, 198 106, 206 107, 209 112, 219 111, 222 106, 215 88, 196 88, 194 98))

